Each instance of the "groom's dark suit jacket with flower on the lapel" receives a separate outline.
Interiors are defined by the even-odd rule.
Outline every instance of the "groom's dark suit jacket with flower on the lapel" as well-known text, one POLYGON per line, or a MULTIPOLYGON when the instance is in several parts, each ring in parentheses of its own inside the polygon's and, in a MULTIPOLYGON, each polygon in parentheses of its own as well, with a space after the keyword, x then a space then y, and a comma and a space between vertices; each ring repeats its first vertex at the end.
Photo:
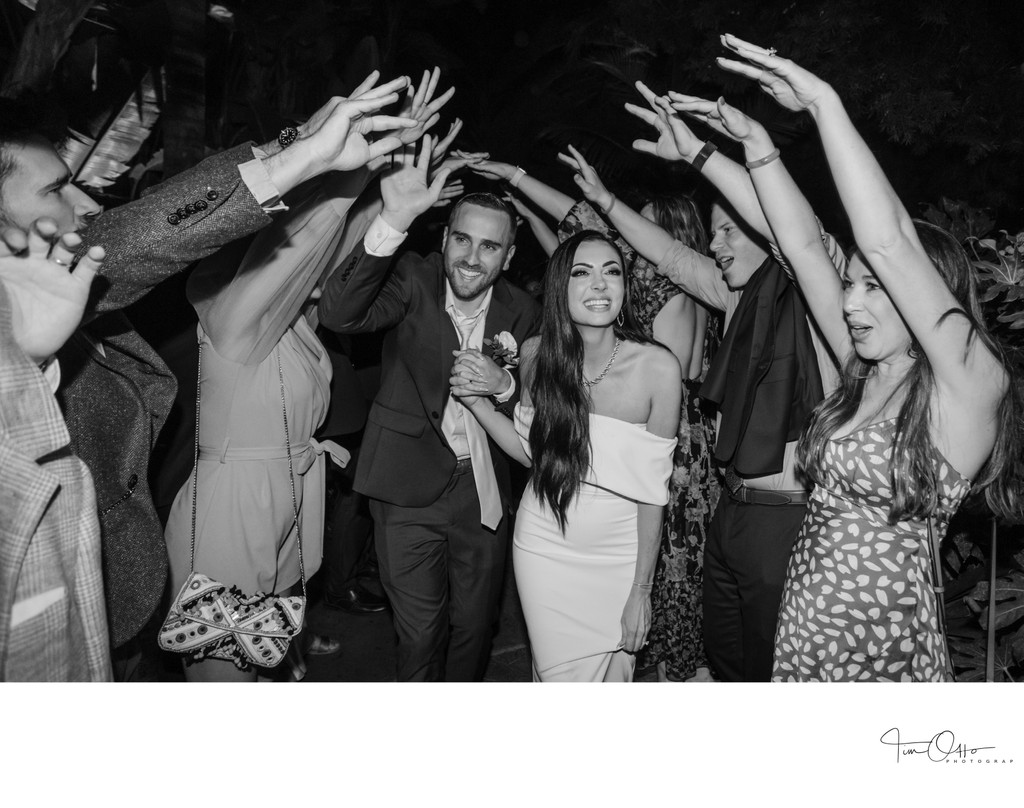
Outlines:
MULTIPOLYGON (((459 337, 444 310, 443 258, 407 252, 388 275, 390 264, 390 256, 368 255, 360 246, 325 285, 318 313, 321 325, 343 334, 388 329, 354 487, 394 505, 425 507, 440 497, 456 466, 441 421, 459 337)), ((540 312, 529 295, 499 279, 484 334, 508 331, 521 345, 540 328, 540 312)), ((508 460, 494 441, 490 457, 507 505, 508 460)))

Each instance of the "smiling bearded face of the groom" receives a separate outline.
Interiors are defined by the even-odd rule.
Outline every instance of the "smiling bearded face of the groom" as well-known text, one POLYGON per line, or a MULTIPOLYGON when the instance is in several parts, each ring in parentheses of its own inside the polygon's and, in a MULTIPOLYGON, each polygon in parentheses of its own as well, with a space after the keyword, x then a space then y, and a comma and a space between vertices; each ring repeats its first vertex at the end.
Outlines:
POLYGON ((509 217, 465 205, 444 229, 444 274, 456 298, 475 303, 508 269, 515 247, 509 217))

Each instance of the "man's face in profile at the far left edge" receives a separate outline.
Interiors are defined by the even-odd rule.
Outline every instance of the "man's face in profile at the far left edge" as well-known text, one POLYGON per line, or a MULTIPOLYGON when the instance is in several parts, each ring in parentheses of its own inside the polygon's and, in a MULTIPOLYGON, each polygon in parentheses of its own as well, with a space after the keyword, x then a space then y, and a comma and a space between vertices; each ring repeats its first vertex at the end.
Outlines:
POLYGON ((43 216, 53 219, 57 233, 84 229, 102 208, 71 184, 71 171, 43 138, 7 145, 4 157, 13 167, 0 188, 3 218, 22 229, 43 216))

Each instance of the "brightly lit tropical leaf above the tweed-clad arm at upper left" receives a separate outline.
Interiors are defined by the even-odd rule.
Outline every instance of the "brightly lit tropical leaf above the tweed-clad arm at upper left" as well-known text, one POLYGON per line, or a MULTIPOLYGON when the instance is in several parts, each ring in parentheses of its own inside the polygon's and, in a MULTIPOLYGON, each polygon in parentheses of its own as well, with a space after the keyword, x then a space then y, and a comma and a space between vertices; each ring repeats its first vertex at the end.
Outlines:
POLYGON ((128 170, 159 118, 160 103, 150 72, 97 138, 70 132, 62 152, 75 181, 92 188, 114 184, 128 170))

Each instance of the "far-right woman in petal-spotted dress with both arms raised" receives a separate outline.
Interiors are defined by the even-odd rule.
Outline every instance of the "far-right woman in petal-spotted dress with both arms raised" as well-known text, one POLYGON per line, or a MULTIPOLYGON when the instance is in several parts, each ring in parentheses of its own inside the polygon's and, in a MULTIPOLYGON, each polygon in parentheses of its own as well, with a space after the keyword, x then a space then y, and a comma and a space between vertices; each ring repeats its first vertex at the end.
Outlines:
POLYGON ((723 100, 668 102, 739 140, 778 245, 829 346, 839 388, 799 457, 815 484, 779 609, 775 680, 947 681, 935 550, 973 488, 1019 519, 1020 385, 988 334, 964 249, 912 220, 836 92, 732 36, 722 68, 807 110, 853 226, 841 274, 767 131, 723 100))

